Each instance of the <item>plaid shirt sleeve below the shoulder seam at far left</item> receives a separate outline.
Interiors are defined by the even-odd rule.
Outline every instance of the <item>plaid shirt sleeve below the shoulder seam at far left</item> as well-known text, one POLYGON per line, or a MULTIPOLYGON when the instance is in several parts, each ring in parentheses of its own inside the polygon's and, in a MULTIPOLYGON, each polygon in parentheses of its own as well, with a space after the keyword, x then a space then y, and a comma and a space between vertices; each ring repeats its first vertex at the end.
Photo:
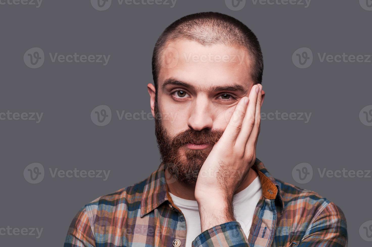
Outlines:
POLYGON ((95 242, 86 208, 83 207, 68 228, 64 247, 95 247, 95 242))

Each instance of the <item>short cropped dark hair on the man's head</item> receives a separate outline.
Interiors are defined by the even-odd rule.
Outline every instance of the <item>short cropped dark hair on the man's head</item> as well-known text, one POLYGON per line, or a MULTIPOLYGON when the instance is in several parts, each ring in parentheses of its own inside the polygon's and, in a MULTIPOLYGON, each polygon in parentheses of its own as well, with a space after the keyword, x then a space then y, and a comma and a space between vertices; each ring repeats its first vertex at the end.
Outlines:
POLYGON ((152 58, 155 89, 157 89, 161 63, 159 55, 168 42, 176 39, 192 40, 205 46, 224 44, 245 47, 252 58, 251 77, 255 84, 262 83, 263 57, 256 35, 242 22, 227 14, 202 12, 189 14, 176 20, 161 33, 155 44, 152 58))

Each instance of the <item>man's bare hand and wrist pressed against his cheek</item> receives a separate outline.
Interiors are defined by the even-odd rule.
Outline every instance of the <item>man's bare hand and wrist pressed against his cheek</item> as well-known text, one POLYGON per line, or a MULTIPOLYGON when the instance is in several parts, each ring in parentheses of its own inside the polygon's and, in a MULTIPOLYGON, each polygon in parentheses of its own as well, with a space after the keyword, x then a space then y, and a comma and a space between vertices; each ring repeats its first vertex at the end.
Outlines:
POLYGON ((195 186, 202 231, 234 220, 234 192, 256 160, 261 101, 262 85, 254 85, 249 98, 241 98, 236 105, 224 133, 203 163, 199 175, 212 176, 198 176, 195 186), (215 221, 208 220, 211 218, 215 221))

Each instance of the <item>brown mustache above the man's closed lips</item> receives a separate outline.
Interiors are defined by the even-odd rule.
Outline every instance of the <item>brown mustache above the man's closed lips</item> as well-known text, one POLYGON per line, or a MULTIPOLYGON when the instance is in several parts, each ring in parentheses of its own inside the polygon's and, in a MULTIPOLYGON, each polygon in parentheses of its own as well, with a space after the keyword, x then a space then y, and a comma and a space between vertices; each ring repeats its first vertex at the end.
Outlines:
POLYGON ((192 144, 215 144, 221 138, 224 130, 219 129, 203 129, 193 130, 187 129, 176 134, 171 140, 171 146, 180 147, 187 143, 192 144))

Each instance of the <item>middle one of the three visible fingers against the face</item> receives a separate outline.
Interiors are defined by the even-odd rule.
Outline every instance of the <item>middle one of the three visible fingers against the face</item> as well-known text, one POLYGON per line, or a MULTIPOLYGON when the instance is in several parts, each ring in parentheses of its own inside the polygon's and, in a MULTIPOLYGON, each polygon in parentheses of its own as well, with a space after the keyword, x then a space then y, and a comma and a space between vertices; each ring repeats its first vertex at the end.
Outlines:
POLYGON ((249 104, 247 107, 246 116, 243 119, 241 131, 235 142, 235 146, 242 147, 243 149, 245 149, 248 137, 250 136, 250 133, 255 123, 257 94, 258 94, 257 90, 259 90, 259 86, 253 85, 253 87, 251 88, 251 91, 249 92, 249 104))

